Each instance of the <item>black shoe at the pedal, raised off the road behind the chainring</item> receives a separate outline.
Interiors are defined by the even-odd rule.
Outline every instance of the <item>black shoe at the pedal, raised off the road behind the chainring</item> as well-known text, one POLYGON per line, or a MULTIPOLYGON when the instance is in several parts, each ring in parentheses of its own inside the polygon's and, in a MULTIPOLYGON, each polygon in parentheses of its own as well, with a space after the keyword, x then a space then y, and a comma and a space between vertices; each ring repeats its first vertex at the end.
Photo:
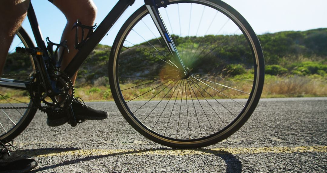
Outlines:
MULTIPOLYGON (((103 120, 108 117, 107 112, 101 110, 95 110, 89 106, 86 106, 84 101, 81 98, 79 98, 83 101, 82 103, 80 100, 78 100, 78 98, 75 98, 72 103, 73 112, 77 121, 78 120, 103 120)), ((46 124, 51 127, 63 125, 68 122, 68 117, 65 112, 62 112, 60 114, 47 114, 47 115, 48 115, 48 119, 46 121, 46 124)))

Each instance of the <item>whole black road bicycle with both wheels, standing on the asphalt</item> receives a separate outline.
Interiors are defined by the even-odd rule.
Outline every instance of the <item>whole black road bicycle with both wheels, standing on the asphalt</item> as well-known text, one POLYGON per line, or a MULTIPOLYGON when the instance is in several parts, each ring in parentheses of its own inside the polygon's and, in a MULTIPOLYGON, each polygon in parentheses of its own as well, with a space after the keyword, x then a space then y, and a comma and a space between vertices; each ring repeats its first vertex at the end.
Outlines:
MULTIPOLYGON (((37 47, 21 28, 17 38, 25 48, 16 51, 25 55, 9 52, 7 63, 19 66, 6 65, 6 78, 0 80, 1 140, 18 136, 37 109, 65 111, 72 126, 78 123, 71 111, 73 97, 67 94, 74 90, 69 76, 134 1, 119 0, 97 27, 77 21, 76 35, 84 29, 89 34, 80 42, 76 38, 79 51, 64 71, 56 52, 65 44, 47 39, 45 46, 30 4, 27 15, 37 47), (53 46, 58 46, 55 51, 53 46)), ((260 99, 264 69, 256 34, 228 4, 145 0, 116 35, 108 74, 112 97, 134 129, 169 147, 198 148, 222 141, 244 125, 260 99)))

